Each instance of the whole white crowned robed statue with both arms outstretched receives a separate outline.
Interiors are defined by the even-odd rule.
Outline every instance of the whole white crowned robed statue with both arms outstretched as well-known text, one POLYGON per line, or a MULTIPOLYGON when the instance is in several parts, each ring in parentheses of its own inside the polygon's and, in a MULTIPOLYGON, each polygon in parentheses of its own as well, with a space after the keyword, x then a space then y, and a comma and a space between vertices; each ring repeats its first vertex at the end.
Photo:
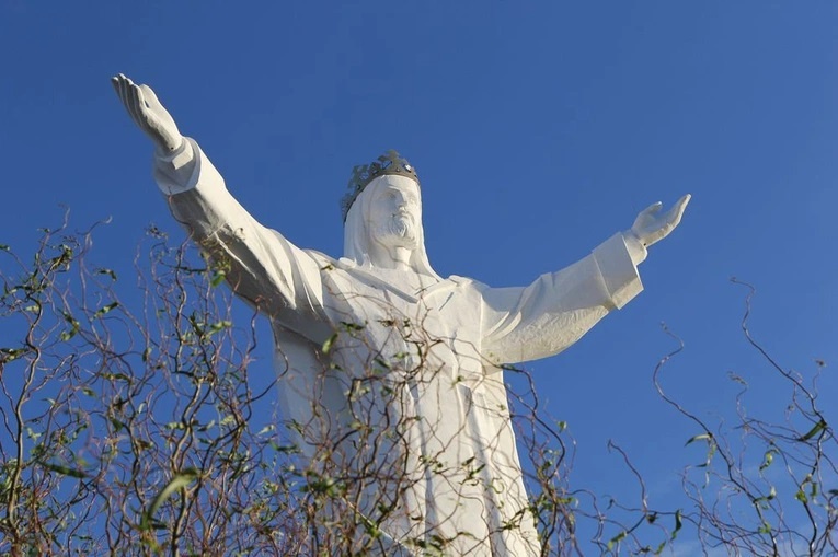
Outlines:
POLYGON ((434 272, 418 177, 390 152, 355 169, 344 257, 333 259, 256 222, 150 88, 122 74, 113 84, 157 148, 154 177, 175 219, 271 320, 283 410, 307 456, 323 474, 357 472, 335 508, 379 527, 388 555, 433 544, 446 555, 539 555, 501 365, 564 350, 634 298, 646 247, 678 225, 690 196, 667 212, 651 206, 528 287, 490 288, 434 272))

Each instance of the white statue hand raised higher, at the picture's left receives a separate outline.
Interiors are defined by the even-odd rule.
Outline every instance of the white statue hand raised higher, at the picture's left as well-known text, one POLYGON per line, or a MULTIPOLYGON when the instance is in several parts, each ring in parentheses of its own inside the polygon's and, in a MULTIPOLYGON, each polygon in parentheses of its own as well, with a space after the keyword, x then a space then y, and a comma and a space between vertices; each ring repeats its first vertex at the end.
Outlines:
POLYGON ((169 112, 148 85, 137 85, 122 73, 111 78, 116 94, 134 123, 146 132, 161 151, 174 151, 183 143, 183 136, 169 112))

